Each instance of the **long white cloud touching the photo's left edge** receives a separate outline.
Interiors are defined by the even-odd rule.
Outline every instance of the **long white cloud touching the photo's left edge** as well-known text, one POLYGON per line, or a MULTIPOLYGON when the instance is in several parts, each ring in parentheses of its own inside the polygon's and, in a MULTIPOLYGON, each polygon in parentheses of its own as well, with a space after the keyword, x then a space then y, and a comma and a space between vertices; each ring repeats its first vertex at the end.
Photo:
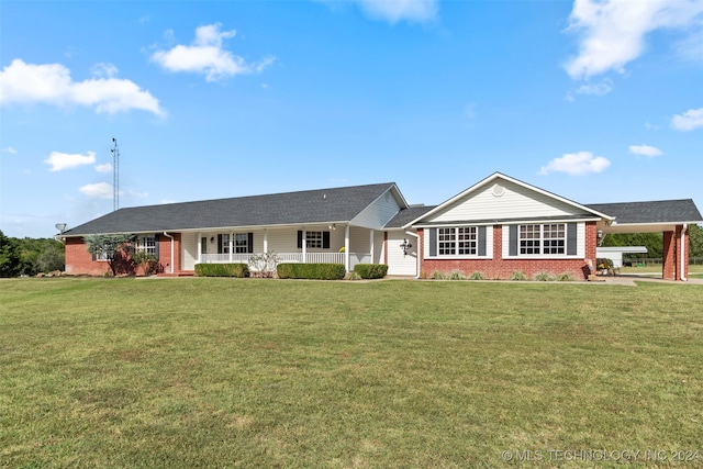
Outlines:
MULTIPOLYGON (((101 64, 97 70, 116 72, 101 64)), ((45 102, 94 107, 98 113, 114 114, 140 109, 163 115, 158 100, 131 80, 93 78, 74 81, 60 64, 34 65, 15 58, 0 71, 0 104, 45 102)))

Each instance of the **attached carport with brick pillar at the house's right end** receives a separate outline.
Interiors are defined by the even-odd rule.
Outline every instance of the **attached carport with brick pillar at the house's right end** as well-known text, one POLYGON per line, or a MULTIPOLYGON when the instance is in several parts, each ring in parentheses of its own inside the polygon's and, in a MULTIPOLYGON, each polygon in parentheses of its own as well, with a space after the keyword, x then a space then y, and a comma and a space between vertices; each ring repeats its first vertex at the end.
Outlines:
POLYGON ((689 277, 689 225, 703 223, 692 199, 652 202, 596 203, 589 208, 614 217, 599 223, 599 231, 610 233, 662 233, 661 277, 687 281, 689 277))

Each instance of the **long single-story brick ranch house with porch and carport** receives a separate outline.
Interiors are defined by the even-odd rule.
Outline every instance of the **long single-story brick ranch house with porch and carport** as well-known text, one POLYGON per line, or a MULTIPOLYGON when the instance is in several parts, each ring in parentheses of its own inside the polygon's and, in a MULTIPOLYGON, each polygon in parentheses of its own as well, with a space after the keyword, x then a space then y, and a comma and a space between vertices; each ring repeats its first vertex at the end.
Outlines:
MULTIPOLYGON (((129 233, 164 275, 199 263, 382 263, 392 276, 480 271, 569 273, 584 279, 607 233, 663 233, 665 279, 688 278, 692 200, 583 205, 500 172, 435 206, 410 205, 393 182, 120 209, 64 232, 66 271, 102 275, 83 236, 129 233)), ((126 264, 125 264, 126 265, 126 264)), ((134 273, 133 271, 126 271, 134 273)))

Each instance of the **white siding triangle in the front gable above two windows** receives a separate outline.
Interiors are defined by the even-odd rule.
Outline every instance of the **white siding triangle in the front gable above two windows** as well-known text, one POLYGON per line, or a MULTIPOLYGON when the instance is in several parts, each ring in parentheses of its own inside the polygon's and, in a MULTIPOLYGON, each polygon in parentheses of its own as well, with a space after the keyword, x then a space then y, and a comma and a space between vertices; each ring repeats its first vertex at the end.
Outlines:
MULTIPOLYGON (((510 220, 539 216, 587 214, 576 206, 547 194, 506 180, 498 180, 503 193, 494 194, 495 183, 489 183, 423 222, 451 222, 470 220, 510 220)), ((499 192, 500 193, 500 192, 499 192)))

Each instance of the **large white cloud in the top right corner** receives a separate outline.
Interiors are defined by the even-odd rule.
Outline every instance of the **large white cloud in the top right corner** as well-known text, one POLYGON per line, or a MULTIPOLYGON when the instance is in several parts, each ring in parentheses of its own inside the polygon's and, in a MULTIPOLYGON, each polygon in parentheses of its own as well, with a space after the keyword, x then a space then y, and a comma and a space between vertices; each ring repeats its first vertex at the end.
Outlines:
MULTIPOLYGON (((644 53, 648 33, 695 29, 702 15, 700 0, 574 0, 567 32, 580 35, 579 54, 565 68, 573 79, 609 70, 622 74, 644 53)), ((691 37, 685 41, 688 49, 691 37)))

